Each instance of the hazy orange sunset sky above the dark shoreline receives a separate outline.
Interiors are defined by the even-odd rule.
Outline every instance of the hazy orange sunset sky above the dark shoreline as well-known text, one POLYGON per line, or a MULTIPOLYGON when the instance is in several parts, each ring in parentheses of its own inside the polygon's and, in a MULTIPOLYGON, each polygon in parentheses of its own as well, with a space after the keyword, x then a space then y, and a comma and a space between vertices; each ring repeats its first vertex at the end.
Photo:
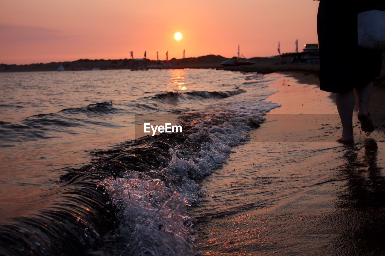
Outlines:
POLYGON ((0 0, 0 63, 246 57, 317 43, 312 0, 0 0), (181 32, 183 39, 174 40, 181 32))

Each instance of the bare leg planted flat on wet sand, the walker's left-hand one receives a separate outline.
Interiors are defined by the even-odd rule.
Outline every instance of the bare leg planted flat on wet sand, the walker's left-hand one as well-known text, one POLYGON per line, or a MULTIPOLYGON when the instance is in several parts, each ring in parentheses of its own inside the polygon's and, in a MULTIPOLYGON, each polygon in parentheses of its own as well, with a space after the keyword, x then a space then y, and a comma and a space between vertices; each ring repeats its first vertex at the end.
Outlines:
POLYGON ((346 93, 336 93, 336 103, 342 123, 342 136, 338 140, 343 143, 350 143, 353 141, 353 90, 346 93))

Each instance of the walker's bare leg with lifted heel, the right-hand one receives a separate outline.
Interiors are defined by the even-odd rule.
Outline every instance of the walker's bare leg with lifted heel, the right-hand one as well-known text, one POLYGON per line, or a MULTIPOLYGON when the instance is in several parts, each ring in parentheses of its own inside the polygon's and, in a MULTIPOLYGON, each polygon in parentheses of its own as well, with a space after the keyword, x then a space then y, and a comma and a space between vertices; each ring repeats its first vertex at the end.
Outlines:
POLYGON ((358 100, 358 120, 361 122, 361 129, 367 133, 374 131, 372 119, 369 114, 369 102, 372 95, 373 82, 366 86, 356 88, 357 100, 358 100))

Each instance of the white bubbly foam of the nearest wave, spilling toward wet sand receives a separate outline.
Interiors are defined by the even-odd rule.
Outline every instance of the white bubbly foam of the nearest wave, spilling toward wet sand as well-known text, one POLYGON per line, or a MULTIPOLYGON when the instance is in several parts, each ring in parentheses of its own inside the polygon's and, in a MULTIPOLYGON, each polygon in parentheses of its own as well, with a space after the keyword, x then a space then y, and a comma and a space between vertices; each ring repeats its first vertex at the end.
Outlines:
MULTIPOLYGON (((276 107, 270 103, 269 107, 276 107)), ((201 199, 197 183, 227 160, 231 147, 248 140, 266 108, 211 110, 182 116, 187 136, 169 148, 167 166, 127 170, 102 183, 119 209, 128 255, 193 255, 192 220, 186 208, 201 199)))

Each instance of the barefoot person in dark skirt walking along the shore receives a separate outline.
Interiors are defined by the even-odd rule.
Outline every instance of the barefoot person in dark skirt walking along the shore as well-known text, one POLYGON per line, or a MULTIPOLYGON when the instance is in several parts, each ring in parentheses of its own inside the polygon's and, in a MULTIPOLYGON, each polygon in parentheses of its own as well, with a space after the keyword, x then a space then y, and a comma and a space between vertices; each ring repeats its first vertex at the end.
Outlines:
MULTIPOLYGON (((381 2, 372 1, 372 4, 381 2)), ((320 0, 317 29, 320 48, 321 90, 336 93, 342 123, 343 143, 353 142, 354 93, 357 94, 358 120, 367 133, 375 127, 370 118, 369 101, 373 80, 380 75, 382 52, 358 46, 357 15, 370 10, 370 3, 346 0, 320 0)), ((370 1, 369 1, 370 2, 370 1)))

